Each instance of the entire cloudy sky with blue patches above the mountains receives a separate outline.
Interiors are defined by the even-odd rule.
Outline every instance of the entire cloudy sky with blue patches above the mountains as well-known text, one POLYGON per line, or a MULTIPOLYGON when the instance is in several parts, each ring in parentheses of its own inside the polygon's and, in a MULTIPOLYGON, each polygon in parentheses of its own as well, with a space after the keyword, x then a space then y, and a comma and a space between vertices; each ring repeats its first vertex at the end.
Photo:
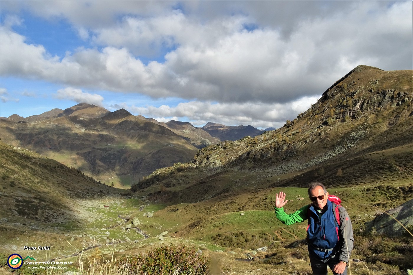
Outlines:
POLYGON ((413 69, 412 5, 1 0, 0 116, 86 102, 279 128, 358 65, 413 69))

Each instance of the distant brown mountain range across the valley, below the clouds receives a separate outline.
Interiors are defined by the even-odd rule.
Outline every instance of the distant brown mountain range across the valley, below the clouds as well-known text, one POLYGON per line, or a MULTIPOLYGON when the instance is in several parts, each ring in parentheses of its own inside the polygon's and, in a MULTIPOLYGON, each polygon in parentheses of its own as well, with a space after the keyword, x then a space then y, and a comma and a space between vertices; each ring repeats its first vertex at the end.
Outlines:
POLYGON ((190 161, 198 149, 263 131, 252 126, 158 122, 125 109, 110 112, 92 104, 52 109, 40 115, 1 118, 0 137, 79 168, 108 184, 129 187, 157 168, 190 161))

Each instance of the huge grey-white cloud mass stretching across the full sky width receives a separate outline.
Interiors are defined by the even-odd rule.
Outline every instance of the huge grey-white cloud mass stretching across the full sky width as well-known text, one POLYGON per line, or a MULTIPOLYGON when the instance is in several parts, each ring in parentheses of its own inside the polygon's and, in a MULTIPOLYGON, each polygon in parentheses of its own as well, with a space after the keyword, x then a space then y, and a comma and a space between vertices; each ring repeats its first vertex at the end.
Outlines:
POLYGON ((0 73, 154 98, 275 103, 319 94, 359 64, 411 66, 411 2, 350 3, 347 14, 299 21, 288 39, 269 26, 243 30, 247 15, 206 22, 178 11, 128 16, 95 29, 95 42, 107 47, 62 60, 3 26, 0 73), (145 65, 132 54, 175 43, 164 63, 145 65))

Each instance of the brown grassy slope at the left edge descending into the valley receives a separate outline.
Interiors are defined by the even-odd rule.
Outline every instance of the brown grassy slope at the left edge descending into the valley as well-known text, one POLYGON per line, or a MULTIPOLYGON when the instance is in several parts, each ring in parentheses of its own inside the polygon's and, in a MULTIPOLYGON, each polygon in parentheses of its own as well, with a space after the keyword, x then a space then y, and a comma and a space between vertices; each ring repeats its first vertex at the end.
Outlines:
POLYGON ((74 199, 116 197, 119 193, 127 193, 27 149, 0 142, 0 153, 0 215, 7 217, 7 224, 77 220, 74 199))

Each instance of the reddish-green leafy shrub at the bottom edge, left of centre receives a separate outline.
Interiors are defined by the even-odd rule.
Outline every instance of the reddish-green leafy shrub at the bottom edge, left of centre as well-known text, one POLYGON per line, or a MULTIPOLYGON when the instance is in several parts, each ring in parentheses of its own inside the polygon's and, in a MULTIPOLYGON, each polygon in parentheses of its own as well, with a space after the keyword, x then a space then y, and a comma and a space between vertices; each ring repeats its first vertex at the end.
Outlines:
POLYGON ((126 267, 131 274, 166 275, 179 270, 179 274, 209 274, 209 259, 185 246, 157 247, 147 254, 122 256, 116 265, 126 267))

